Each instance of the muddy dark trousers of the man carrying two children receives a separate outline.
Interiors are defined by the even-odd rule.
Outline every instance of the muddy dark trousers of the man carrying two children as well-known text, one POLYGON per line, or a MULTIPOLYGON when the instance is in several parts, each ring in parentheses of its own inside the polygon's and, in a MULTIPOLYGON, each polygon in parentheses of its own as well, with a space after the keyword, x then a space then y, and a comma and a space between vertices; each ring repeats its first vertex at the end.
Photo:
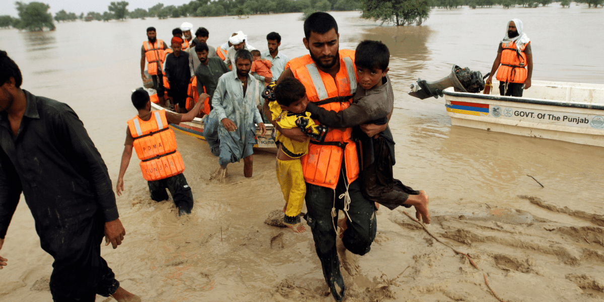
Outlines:
MULTIPOLYGON (((344 199, 339 199, 339 196, 345 191, 345 178, 340 175, 335 189, 336 217, 332 217, 334 191, 330 188, 306 184, 308 210, 306 220, 315 240, 316 254, 321 260, 323 277, 336 301, 341 301, 344 297, 344 280, 339 269, 334 225, 337 225, 338 210, 344 208, 344 199)), ((364 255, 370 251, 371 243, 376 237, 375 207, 373 202, 363 196, 358 180, 350 184, 348 192, 351 200, 348 214, 352 222, 346 220, 347 230, 344 232, 342 242, 345 248, 354 254, 364 255)))

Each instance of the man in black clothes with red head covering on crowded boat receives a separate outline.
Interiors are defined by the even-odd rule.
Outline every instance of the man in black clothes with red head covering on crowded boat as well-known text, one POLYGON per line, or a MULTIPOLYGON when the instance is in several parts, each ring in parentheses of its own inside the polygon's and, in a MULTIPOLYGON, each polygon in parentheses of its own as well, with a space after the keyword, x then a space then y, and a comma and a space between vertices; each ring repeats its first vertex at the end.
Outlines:
POLYGON ((188 66, 188 53, 182 51, 182 38, 172 37, 173 53, 165 57, 165 76, 170 83, 168 94, 178 104, 178 112, 186 113, 187 88, 191 80, 188 66))

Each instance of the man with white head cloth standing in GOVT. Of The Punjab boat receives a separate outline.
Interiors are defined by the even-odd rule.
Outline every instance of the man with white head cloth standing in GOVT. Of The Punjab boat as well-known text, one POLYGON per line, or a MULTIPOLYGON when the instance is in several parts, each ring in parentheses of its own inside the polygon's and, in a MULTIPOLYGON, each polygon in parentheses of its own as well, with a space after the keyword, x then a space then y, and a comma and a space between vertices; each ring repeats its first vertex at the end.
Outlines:
POLYGON ((530 79, 533 74, 533 53, 530 39, 522 31, 520 19, 512 19, 507 22, 506 36, 499 44, 497 57, 493 62, 487 83, 492 82, 495 71, 501 95, 522 97, 523 86, 524 89, 530 87, 530 79))

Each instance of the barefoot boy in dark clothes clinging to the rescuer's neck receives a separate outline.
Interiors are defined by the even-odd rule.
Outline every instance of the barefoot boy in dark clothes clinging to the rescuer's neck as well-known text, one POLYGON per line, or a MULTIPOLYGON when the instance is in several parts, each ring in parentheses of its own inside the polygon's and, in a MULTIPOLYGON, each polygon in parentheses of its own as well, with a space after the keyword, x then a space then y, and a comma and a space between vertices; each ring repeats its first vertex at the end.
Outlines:
MULTIPOLYGON (((313 103, 306 110, 321 124, 330 128, 345 128, 362 124, 386 124, 394 108, 390 77, 387 76, 390 51, 382 42, 365 40, 355 53, 356 74, 359 82, 353 104, 339 112, 327 111, 313 103)), ((358 130, 358 129, 357 129, 358 130)), ((362 191, 367 199, 390 210, 402 205, 416 207, 416 217, 430 222, 428 195, 416 191, 393 178, 394 140, 390 127, 368 137, 356 131, 362 145, 359 158, 362 172, 362 191)))

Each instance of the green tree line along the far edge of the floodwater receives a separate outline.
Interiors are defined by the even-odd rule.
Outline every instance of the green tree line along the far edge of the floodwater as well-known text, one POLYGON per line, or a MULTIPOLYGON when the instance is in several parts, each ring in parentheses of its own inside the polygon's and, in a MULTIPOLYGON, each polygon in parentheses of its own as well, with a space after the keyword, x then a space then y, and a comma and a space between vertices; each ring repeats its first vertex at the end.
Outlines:
MULTIPOLYGON (((149 9, 136 8, 129 11, 129 2, 111 2, 107 11, 102 14, 89 11, 87 14, 76 14, 60 10, 54 16, 54 21, 111 21, 144 19, 157 17, 159 19, 179 18, 186 16, 241 16, 245 14, 296 13, 304 16, 315 11, 329 10, 362 10, 362 18, 382 21, 383 23, 400 25, 421 25, 430 13, 431 8, 457 8, 467 5, 472 8, 492 7, 502 5, 509 8, 519 5, 522 7, 538 7, 551 4, 552 0, 191 0, 179 6, 158 3, 149 9)), ((570 0, 562 0, 562 7, 570 7, 570 0)), ((577 3, 588 4, 589 7, 604 6, 604 0, 582 0, 577 3)), ((19 18, 0 16, 0 28, 14 27, 21 30, 40 31, 43 28, 54 30, 53 16, 48 13, 50 6, 42 2, 14 2, 19 18)))

